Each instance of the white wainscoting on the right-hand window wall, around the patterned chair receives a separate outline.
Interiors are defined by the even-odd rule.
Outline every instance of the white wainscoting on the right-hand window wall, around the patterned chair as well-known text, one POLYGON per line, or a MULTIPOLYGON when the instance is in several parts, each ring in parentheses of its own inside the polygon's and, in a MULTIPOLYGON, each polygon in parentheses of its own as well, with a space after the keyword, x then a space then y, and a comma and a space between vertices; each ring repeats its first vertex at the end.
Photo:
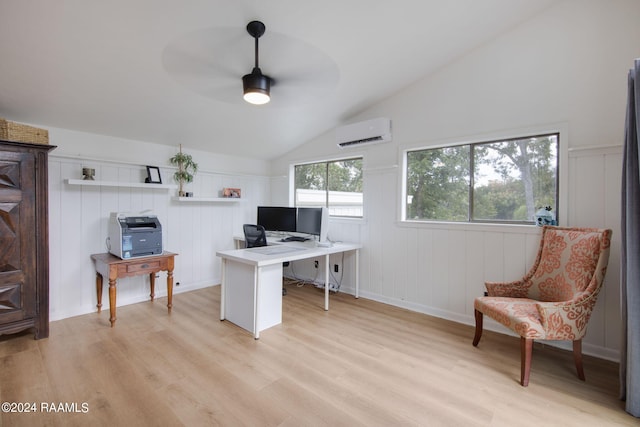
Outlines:
MULTIPOLYGON (((618 360, 620 348, 620 177, 622 149, 569 150, 565 226, 613 230, 609 268, 583 350, 618 360)), ((360 295, 410 310, 474 324, 473 300, 484 281, 515 280, 531 267, 540 228, 399 221, 397 167, 365 172, 365 218, 334 221, 334 238, 359 239, 360 295), (391 203, 393 202, 393 203, 391 203)), ((349 288, 343 288, 348 290, 349 288)), ((491 319, 485 327, 509 331, 491 319)), ((472 337, 469 337, 471 343, 472 337)), ((569 348, 568 345, 550 342, 569 348)))

